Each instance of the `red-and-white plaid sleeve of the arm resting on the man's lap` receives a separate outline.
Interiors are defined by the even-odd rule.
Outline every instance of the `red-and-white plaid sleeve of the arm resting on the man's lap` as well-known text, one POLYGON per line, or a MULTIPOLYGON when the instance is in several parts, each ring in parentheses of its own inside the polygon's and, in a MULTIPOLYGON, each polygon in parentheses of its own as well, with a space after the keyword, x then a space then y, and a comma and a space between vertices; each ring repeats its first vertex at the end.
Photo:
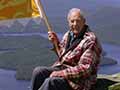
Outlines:
POLYGON ((96 60, 98 58, 95 48, 95 42, 90 41, 86 50, 81 55, 78 65, 62 70, 64 76, 66 78, 88 77, 92 72, 92 66, 96 64, 96 60))

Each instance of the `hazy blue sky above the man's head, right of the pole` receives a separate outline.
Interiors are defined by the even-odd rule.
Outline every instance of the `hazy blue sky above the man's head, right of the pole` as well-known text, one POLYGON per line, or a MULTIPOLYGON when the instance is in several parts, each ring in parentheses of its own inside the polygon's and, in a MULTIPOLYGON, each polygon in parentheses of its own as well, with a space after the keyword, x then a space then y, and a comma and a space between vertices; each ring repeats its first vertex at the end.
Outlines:
POLYGON ((103 7, 119 7, 120 0, 41 0, 49 16, 65 16, 70 8, 81 8, 87 15, 103 7))

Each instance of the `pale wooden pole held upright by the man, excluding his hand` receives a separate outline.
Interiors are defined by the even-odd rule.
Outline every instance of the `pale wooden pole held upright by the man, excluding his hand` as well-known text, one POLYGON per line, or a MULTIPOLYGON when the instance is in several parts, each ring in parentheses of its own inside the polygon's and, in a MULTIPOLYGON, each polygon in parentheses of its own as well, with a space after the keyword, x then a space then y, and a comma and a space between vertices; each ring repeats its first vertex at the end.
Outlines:
MULTIPOLYGON (((37 5, 39 14, 42 15, 43 19, 45 20, 45 24, 46 24, 46 26, 48 28, 48 32, 52 31, 52 27, 51 27, 50 23, 48 22, 48 18, 47 18, 46 14, 45 14, 45 11, 43 9, 41 1, 40 0, 35 0, 35 3, 37 5)), ((57 52, 57 54, 59 56, 60 54, 59 54, 59 48, 58 48, 57 42, 54 43, 54 46, 55 46, 56 52, 57 52)))

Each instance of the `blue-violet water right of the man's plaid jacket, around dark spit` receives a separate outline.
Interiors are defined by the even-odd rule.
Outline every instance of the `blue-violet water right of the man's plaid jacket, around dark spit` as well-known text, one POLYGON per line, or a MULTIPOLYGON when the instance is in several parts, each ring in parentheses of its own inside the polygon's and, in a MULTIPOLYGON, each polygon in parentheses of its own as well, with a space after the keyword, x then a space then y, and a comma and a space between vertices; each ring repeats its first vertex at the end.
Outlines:
POLYGON ((99 73, 101 74, 114 74, 120 72, 120 46, 114 44, 103 43, 103 50, 107 52, 107 57, 117 61, 115 65, 101 66, 99 73))

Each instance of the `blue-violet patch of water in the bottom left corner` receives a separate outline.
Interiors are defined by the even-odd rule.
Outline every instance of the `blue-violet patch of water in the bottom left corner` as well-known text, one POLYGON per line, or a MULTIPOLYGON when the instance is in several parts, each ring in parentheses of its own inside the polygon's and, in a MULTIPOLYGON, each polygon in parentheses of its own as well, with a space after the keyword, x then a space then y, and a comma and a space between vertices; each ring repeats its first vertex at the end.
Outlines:
POLYGON ((16 80, 15 71, 0 69, 0 90, 29 90, 29 81, 16 80))

